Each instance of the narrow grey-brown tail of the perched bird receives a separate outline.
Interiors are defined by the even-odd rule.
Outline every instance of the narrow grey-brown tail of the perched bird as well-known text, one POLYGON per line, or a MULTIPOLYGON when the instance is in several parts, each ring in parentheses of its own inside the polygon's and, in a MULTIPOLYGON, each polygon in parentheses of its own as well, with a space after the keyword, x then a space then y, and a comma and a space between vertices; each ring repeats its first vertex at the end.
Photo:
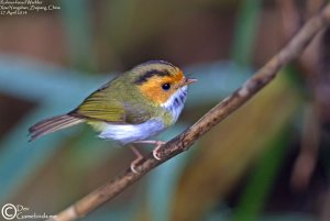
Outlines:
POLYGON ((30 141, 82 122, 85 122, 84 119, 75 118, 68 114, 45 119, 29 129, 31 136, 30 141))

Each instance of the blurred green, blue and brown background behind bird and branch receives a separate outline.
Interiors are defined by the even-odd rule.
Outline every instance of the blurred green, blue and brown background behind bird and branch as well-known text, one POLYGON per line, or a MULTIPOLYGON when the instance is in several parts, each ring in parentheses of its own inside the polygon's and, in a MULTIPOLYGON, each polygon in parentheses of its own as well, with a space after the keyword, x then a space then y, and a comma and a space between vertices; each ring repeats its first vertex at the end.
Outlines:
MULTIPOLYGON (((47 1, 0 15, 0 207, 55 214, 134 158, 88 126, 28 129, 148 59, 198 78, 169 140, 274 55, 322 0, 47 1)), ((330 220, 330 32, 243 108, 82 220, 330 220)), ((140 147, 147 153, 150 147, 140 147)), ((2 217, 0 218, 0 220, 2 217)))

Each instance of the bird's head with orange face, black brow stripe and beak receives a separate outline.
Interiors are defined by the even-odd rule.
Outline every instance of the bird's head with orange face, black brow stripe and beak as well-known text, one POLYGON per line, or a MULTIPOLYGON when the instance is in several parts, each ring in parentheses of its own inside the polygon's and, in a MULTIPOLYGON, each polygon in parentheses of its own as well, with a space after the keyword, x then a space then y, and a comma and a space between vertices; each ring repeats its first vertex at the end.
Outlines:
POLYGON ((132 69, 133 84, 142 95, 157 104, 163 104, 173 95, 186 90, 187 85, 197 81, 185 77, 182 69, 164 60, 150 60, 132 69))

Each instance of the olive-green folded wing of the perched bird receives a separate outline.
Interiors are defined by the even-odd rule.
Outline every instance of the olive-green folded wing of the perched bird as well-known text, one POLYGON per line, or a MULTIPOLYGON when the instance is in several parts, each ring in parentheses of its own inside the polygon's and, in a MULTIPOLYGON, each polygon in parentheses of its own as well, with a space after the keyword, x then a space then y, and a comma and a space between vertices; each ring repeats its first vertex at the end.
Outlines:
MULTIPOLYGON (((128 96, 122 96, 109 88, 101 88, 86 98, 70 114, 91 120, 130 124, 142 123, 151 118, 151 112, 145 109, 145 106, 134 98, 128 102, 123 97, 128 96)), ((129 95, 129 97, 131 96, 129 95)))

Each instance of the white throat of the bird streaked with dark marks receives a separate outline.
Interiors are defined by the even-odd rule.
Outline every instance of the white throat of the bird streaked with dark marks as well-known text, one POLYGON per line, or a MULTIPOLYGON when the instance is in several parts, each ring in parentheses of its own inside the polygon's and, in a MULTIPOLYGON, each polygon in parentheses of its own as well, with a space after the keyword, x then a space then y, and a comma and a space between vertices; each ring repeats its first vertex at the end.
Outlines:
POLYGON ((187 86, 179 88, 175 93, 173 93, 165 103, 162 103, 161 107, 165 108, 172 113, 173 122, 176 122, 180 115, 184 104, 187 98, 187 86))

